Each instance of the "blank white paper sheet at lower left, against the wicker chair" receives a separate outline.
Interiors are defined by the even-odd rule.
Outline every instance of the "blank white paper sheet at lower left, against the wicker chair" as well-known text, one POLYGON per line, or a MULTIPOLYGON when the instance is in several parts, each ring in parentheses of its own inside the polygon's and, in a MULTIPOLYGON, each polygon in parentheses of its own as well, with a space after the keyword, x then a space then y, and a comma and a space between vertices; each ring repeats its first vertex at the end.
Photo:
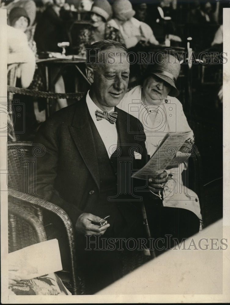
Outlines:
POLYGON ((20 268, 10 273, 22 280, 36 278, 62 270, 60 249, 57 239, 39 242, 8 254, 9 265, 20 268))

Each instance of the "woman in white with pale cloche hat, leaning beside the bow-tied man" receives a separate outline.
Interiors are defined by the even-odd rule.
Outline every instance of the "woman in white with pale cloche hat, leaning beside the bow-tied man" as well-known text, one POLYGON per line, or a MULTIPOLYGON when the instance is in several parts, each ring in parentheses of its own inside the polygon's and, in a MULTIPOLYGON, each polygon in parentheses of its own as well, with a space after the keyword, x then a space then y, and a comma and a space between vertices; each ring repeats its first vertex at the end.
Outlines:
MULTIPOLYGON (((180 73, 180 63, 169 54, 159 53, 158 63, 149 64, 142 84, 126 93, 118 108, 137 117, 144 126, 146 149, 150 157, 158 149, 161 140, 168 133, 188 132, 183 148, 194 144, 193 131, 188 125, 183 107, 176 98, 179 91, 175 82, 180 73)), ((177 156, 183 152, 177 152, 177 156)), ((162 191, 153 191, 156 196, 163 195, 163 206, 180 207, 191 210, 200 219, 198 196, 183 185, 181 173, 187 169, 186 162, 178 168, 166 169, 168 181, 162 191), (178 190, 181 190, 179 192, 178 190)))

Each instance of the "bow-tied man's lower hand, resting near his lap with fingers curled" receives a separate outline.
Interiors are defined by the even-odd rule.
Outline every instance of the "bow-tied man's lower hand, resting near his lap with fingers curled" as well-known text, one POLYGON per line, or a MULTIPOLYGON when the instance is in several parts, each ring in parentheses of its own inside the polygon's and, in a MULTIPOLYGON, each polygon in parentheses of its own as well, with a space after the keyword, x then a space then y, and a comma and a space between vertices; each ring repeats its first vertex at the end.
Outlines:
POLYGON ((105 221, 106 224, 103 225, 101 228, 99 228, 100 222, 104 222, 104 219, 90 213, 82 213, 77 219, 75 228, 78 232, 84 235, 93 235, 93 234, 103 235, 104 232, 110 226, 110 224, 107 224, 107 221, 105 221), (98 223, 98 225, 93 224, 92 222, 98 223))

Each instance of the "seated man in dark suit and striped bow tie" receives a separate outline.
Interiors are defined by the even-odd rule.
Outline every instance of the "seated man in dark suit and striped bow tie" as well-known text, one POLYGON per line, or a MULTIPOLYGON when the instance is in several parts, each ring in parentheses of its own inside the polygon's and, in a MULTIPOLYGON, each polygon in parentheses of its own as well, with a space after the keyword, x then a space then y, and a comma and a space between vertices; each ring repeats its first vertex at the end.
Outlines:
MULTIPOLYGON (((70 216, 76 230, 78 274, 85 277, 87 294, 124 274, 121 239, 147 237, 141 204, 145 193, 152 193, 142 194, 135 187, 159 189, 166 183, 166 173, 153 176, 148 183, 131 178, 146 163, 147 151, 140 121, 116 107, 129 81, 126 56, 127 49, 119 42, 94 43, 87 53, 86 74, 91 83, 87 95, 55 113, 35 138, 35 143, 46 148, 37 160, 37 194, 70 216)), ((151 200, 150 210, 159 203, 155 197, 151 200)), ((153 227, 157 218, 163 226, 160 206, 152 213, 153 227)), ((166 222, 170 218, 175 222, 178 215, 169 209, 166 222)), ((192 214, 185 217, 188 234, 199 230, 199 220, 192 214)), ((163 232, 157 229, 154 236, 159 231, 163 232)))

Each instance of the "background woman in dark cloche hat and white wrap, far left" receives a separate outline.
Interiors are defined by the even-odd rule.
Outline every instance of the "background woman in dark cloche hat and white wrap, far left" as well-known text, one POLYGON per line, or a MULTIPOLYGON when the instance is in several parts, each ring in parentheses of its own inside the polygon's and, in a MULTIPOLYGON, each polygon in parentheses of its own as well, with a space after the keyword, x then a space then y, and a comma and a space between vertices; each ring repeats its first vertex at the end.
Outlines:
MULTIPOLYGON (((35 53, 36 45, 29 45, 25 31, 30 25, 30 18, 25 9, 14 7, 9 13, 9 25, 7 25, 8 64, 17 63, 16 87, 28 88, 35 75, 35 53)), ((15 117, 14 130, 24 130, 20 134, 20 140, 25 138, 36 126, 34 103, 31 96, 15 94, 14 99, 24 103, 25 115, 15 117)), ((14 106, 13 106, 14 107, 14 106)), ((31 139, 30 139, 31 140, 31 139)))

